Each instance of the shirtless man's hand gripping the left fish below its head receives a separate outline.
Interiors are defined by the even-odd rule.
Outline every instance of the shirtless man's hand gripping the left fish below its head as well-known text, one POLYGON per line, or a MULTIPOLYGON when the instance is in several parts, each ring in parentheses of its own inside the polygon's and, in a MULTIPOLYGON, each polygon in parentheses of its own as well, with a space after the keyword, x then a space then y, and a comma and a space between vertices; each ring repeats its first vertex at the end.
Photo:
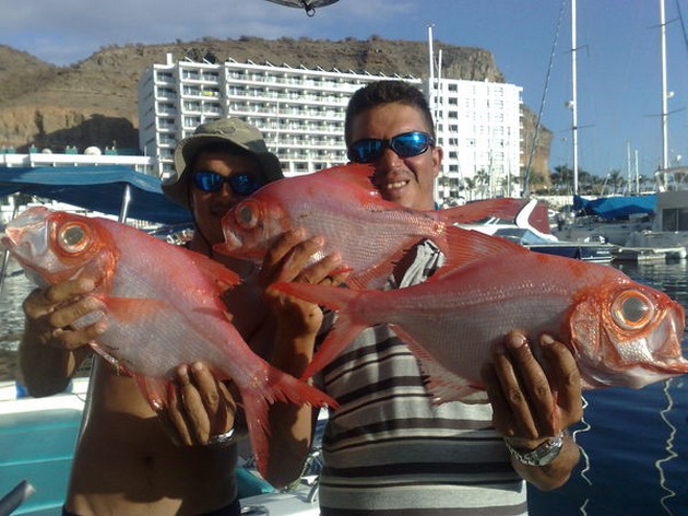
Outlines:
POLYGON ((50 396, 64 390, 76 367, 92 352, 86 345, 106 329, 96 321, 82 329, 70 325, 99 309, 88 297, 91 280, 66 281, 32 292, 22 305, 24 335, 19 347, 23 382, 32 396, 50 396))

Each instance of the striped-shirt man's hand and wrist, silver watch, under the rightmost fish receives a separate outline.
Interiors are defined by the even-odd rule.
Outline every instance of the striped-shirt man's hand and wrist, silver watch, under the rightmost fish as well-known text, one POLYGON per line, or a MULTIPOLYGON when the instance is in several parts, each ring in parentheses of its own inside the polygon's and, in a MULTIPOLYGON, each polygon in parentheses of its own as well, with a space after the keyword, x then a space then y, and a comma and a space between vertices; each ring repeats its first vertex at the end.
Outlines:
POLYGON ((571 352, 549 336, 542 336, 539 345, 543 365, 525 336, 513 331, 506 345, 495 348, 482 373, 495 427, 515 452, 511 459, 514 469, 548 491, 562 485, 578 464, 580 450, 566 429, 581 420, 583 409, 580 374, 571 352), (546 446, 561 432, 561 448, 548 464, 532 466, 517 457, 546 446))

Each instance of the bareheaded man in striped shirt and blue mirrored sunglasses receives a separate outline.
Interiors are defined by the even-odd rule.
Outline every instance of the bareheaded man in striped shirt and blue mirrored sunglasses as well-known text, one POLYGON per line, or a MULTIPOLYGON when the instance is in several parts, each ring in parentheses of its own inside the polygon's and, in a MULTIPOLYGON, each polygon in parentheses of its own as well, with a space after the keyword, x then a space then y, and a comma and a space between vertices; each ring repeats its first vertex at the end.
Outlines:
MULTIPOLYGON (((417 89, 380 81, 358 90, 346 112, 345 139, 352 162, 375 166, 372 183, 384 199, 432 209, 442 150, 417 89)), ((423 282, 442 260, 432 243, 423 242, 387 288, 423 282)), ((304 320, 315 328, 312 313, 304 320)), ((273 364, 298 376, 312 357, 316 332, 297 349, 277 351, 273 364)), ((472 400, 483 402, 434 406, 417 361, 392 329, 365 330, 315 377, 341 404, 323 436, 322 516, 526 514, 523 480, 544 490, 566 482, 579 458, 566 429, 582 415, 571 353, 549 337, 538 345, 546 371, 525 337, 513 332, 483 367, 487 392, 472 400)), ((274 407, 272 438, 282 444, 271 456, 274 483, 298 474, 313 420, 304 408, 274 407)))

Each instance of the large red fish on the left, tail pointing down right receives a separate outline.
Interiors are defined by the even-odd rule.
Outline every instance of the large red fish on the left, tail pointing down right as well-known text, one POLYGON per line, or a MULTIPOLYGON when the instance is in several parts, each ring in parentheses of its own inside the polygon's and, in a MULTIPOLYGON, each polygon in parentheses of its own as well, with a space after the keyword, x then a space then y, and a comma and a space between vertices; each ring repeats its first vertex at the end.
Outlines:
POLYGON ((43 207, 20 214, 5 235, 2 244, 39 284, 94 280, 108 329, 92 345, 135 378, 154 409, 166 404, 179 364, 203 361, 218 379, 232 378, 261 472, 269 403, 336 404, 249 349, 222 301, 239 279, 210 258, 117 222, 43 207))

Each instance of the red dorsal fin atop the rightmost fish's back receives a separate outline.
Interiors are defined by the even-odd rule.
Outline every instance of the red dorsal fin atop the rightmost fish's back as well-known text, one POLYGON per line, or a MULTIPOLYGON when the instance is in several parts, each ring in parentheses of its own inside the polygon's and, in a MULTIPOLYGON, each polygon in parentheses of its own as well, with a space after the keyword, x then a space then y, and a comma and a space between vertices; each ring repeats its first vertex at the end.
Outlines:
POLYGON ((471 267, 487 257, 510 255, 511 259, 514 254, 532 253, 522 245, 506 238, 456 226, 447 227, 444 238, 434 239, 434 242, 444 255, 444 265, 428 281, 437 280, 447 272, 471 267))

